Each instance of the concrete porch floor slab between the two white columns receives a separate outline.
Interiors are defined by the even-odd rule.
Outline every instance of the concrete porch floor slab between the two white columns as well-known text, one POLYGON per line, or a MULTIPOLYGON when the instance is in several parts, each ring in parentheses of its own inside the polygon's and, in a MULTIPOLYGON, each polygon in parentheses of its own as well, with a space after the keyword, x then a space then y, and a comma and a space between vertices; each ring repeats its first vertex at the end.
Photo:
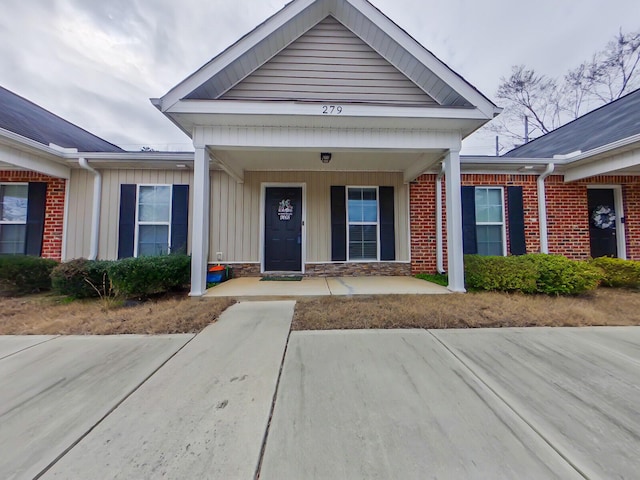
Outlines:
POLYGON ((447 288, 413 277, 305 277, 300 281, 261 281, 260 277, 228 280, 205 297, 322 297, 329 295, 434 295, 447 288))

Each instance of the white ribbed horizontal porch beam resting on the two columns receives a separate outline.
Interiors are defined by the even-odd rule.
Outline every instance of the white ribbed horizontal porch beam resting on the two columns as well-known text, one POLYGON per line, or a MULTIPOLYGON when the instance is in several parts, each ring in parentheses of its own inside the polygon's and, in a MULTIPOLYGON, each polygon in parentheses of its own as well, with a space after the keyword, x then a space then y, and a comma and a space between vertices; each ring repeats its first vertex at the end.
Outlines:
POLYGON ((459 132, 389 128, 199 127, 194 139, 217 148, 444 150, 459 132))

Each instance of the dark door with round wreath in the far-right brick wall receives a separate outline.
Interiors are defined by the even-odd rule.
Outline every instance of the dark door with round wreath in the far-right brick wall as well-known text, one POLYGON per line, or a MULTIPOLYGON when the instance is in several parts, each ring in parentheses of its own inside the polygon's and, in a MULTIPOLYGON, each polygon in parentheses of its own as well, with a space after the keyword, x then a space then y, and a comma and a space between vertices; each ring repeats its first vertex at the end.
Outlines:
POLYGON ((589 204, 589 236, 591 257, 617 257, 616 211, 613 190, 590 188, 587 190, 589 204))

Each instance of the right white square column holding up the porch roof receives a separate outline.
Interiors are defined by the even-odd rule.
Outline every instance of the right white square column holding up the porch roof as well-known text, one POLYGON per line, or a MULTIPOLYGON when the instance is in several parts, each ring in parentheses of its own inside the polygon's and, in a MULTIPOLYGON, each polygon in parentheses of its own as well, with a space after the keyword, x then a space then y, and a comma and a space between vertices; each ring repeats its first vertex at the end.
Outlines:
POLYGON ((447 186, 447 257, 449 290, 465 292, 462 248, 462 197, 460 191, 460 151, 449 150, 444 162, 447 186))

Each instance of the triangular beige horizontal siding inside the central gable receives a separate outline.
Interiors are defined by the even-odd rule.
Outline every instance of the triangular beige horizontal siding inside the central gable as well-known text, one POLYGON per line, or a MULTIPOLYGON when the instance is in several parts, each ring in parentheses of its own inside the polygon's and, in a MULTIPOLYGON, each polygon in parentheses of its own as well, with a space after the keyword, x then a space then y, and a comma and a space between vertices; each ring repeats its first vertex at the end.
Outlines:
POLYGON ((437 105, 333 17, 327 17, 220 97, 437 105))

